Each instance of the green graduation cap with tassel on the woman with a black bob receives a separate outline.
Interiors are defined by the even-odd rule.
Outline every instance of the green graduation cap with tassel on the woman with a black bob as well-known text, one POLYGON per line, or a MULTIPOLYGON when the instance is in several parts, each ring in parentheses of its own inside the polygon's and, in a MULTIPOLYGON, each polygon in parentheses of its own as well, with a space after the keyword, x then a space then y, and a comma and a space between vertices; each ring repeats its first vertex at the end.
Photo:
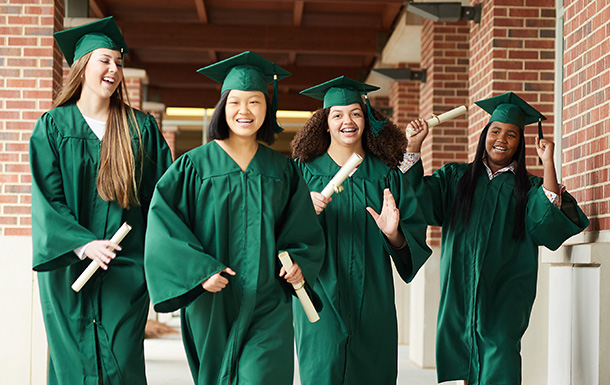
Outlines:
POLYGON ((267 84, 273 82, 274 131, 282 131, 275 118, 278 94, 277 81, 292 75, 290 72, 252 51, 242 52, 218 63, 210 64, 198 69, 197 72, 222 84, 221 93, 226 90, 240 90, 260 91, 268 95, 267 84))

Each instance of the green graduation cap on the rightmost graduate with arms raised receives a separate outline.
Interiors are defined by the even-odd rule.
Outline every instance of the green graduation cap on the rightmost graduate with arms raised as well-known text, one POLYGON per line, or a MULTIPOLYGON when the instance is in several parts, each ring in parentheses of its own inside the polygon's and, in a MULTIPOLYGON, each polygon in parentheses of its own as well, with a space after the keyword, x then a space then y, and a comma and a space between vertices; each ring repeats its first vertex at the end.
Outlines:
POLYGON ((514 93, 507 92, 479 100, 475 104, 491 114, 489 123, 510 123, 523 130, 528 124, 538 122, 538 137, 542 139, 542 121, 546 120, 546 117, 514 93))

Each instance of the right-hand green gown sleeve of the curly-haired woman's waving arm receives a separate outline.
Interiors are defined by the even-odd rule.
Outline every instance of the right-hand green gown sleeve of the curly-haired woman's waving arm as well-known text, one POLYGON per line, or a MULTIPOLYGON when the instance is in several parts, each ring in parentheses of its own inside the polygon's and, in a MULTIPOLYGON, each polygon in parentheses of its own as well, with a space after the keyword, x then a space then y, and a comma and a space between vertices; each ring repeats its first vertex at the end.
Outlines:
POLYGON ((411 282, 432 254, 426 244, 428 225, 407 178, 396 170, 391 172, 390 177, 390 190, 395 198, 398 197, 396 203, 400 211, 399 227, 407 241, 407 246, 397 250, 390 245, 383 233, 381 236, 384 239, 386 252, 394 261, 396 271, 405 282, 411 282))

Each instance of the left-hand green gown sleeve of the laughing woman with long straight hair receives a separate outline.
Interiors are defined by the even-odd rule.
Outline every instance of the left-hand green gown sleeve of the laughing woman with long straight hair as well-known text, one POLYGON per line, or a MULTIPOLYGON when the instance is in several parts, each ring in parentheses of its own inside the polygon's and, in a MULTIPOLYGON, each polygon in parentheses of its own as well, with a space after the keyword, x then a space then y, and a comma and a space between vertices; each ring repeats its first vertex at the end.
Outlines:
MULTIPOLYGON (((30 137, 33 268, 36 271, 60 269, 80 262, 73 250, 96 239, 78 223, 66 203, 58 151, 62 140, 48 113, 36 122, 30 137)), ((81 160, 71 161, 78 164, 81 160)))

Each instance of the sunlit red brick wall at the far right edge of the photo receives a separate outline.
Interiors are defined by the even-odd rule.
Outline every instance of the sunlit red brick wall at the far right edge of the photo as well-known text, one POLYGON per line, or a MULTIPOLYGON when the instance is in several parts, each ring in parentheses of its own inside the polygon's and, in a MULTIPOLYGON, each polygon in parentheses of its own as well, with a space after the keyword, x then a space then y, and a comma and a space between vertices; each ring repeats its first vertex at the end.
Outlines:
POLYGON ((610 2, 565 2, 563 183, 591 220, 610 229, 610 2))

